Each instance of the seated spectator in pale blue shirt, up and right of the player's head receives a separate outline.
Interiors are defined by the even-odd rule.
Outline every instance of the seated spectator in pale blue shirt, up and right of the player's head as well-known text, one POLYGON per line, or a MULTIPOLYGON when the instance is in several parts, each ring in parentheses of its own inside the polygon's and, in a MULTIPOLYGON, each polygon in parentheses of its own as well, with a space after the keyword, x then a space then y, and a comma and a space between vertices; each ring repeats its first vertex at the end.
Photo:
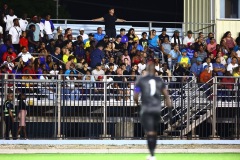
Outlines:
POLYGON ((179 51, 179 46, 175 44, 173 50, 171 50, 168 54, 168 66, 170 70, 172 70, 173 66, 177 63, 179 55, 181 55, 181 52, 179 51))

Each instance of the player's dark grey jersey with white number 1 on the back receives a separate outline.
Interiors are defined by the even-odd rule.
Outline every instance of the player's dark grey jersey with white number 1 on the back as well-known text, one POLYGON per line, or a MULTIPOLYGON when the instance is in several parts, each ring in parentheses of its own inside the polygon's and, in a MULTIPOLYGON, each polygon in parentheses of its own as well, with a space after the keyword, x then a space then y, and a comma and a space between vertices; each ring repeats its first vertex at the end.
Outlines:
POLYGON ((149 109, 161 107, 161 94, 165 87, 160 77, 146 75, 139 78, 135 84, 135 91, 141 92, 142 107, 149 109))

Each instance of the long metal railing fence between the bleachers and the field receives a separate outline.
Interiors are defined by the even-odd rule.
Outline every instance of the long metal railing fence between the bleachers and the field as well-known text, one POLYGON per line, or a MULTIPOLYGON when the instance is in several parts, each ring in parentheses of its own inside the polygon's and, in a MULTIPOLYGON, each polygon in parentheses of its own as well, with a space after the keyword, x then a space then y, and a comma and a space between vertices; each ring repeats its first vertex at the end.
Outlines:
MULTIPOLYGON (((64 75, 47 76, 48 80, 23 80, 13 75, 1 78, 1 106, 10 92, 14 94, 16 109, 18 94, 27 95, 28 138, 144 138, 140 108, 133 101, 135 77, 131 80, 124 76, 122 78, 127 80, 110 81, 104 76, 102 81, 83 81, 66 79, 64 75)), ((163 101, 159 136, 166 139, 239 139, 239 78, 231 83, 221 82, 223 78, 234 77, 214 77, 206 83, 209 84, 207 88, 194 77, 188 77, 187 81, 166 82, 174 104, 174 123, 170 125, 165 118, 163 101), (220 88, 220 84, 231 85, 232 89, 220 88), (226 92, 228 95, 224 94, 226 92)), ((1 138, 4 138, 3 116, 1 138)), ((15 128, 17 125, 16 119, 15 128)))

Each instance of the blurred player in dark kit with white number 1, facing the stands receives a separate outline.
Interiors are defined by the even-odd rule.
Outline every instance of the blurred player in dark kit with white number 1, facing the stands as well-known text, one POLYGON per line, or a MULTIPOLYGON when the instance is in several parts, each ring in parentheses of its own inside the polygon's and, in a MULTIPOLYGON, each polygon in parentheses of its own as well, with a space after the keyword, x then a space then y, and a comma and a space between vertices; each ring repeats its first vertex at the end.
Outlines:
POLYGON ((139 105, 138 97, 141 93, 140 120, 147 135, 150 156, 147 160, 155 160, 154 150, 157 144, 157 125, 160 121, 161 95, 164 95, 166 105, 169 109, 168 116, 172 117, 172 102, 168 95, 163 80, 155 76, 154 63, 148 63, 147 74, 136 81, 134 88, 134 101, 139 105))

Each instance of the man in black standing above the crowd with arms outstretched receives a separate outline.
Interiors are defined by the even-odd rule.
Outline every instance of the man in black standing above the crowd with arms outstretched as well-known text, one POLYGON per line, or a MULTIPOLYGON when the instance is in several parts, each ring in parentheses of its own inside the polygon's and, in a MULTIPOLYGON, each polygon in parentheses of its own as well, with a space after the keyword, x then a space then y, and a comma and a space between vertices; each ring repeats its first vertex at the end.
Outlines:
POLYGON ((105 23, 105 33, 110 38, 116 37, 116 27, 115 22, 125 22, 124 19, 119 19, 114 14, 114 8, 109 8, 108 14, 105 14, 103 17, 93 19, 93 21, 104 21, 105 23))

